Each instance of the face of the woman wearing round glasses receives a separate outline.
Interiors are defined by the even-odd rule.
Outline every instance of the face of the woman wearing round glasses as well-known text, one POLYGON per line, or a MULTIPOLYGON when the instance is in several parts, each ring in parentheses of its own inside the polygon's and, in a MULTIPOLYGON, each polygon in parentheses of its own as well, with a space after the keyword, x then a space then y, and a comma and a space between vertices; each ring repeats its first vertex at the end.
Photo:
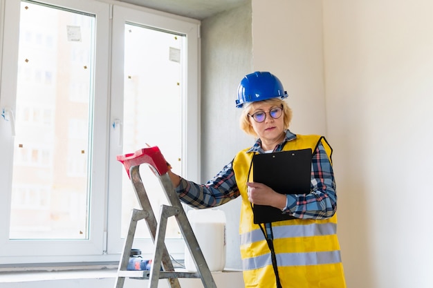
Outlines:
MULTIPOLYGON (((282 111, 281 106, 275 106, 275 104, 266 104, 265 102, 257 102, 253 104, 248 115, 250 115, 248 117, 250 119, 250 124, 255 133, 257 133, 261 139, 262 144, 275 146, 282 141, 284 138, 284 112, 282 111), (253 117, 255 113, 265 113, 266 117, 264 121, 257 122, 253 117), (271 115, 273 115, 273 117, 271 115)), ((260 117, 256 118, 259 119, 260 117)), ((271 149, 273 149, 274 146, 272 146, 271 149)))

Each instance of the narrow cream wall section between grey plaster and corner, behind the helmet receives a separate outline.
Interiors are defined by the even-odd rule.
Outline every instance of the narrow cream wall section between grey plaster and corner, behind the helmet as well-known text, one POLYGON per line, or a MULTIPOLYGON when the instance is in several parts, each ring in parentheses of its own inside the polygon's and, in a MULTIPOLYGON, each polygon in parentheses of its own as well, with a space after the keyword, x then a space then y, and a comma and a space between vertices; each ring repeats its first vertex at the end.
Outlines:
POLYGON ((291 131, 326 133, 320 0, 252 1, 254 70, 275 74, 293 109, 291 131))

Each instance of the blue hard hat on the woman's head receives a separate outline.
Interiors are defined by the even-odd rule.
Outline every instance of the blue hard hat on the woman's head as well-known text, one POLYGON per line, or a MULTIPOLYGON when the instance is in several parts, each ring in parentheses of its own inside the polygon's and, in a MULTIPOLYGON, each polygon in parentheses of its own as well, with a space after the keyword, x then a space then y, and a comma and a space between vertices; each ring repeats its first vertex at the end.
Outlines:
POLYGON ((283 84, 269 72, 255 72, 246 75, 237 88, 236 107, 242 108, 243 103, 257 102, 270 98, 288 97, 283 84))

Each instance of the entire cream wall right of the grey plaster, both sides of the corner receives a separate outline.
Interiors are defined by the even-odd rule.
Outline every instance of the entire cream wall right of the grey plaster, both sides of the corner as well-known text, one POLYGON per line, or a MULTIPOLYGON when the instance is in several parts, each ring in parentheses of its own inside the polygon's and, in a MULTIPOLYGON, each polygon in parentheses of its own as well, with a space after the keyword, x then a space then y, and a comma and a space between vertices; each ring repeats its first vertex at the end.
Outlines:
POLYGON ((255 68, 282 75, 295 132, 334 148, 347 286, 432 287, 433 2, 253 0, 252 14, 255 68))

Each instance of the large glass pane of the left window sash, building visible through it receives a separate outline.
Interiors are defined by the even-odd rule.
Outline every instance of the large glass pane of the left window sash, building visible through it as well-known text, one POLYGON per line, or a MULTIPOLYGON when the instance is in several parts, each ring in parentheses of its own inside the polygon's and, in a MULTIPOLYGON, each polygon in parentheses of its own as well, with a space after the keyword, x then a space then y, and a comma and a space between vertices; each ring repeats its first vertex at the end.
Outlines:
POLYGON ((95 17, 21 2, 10 239, 87 239, 95 17))

